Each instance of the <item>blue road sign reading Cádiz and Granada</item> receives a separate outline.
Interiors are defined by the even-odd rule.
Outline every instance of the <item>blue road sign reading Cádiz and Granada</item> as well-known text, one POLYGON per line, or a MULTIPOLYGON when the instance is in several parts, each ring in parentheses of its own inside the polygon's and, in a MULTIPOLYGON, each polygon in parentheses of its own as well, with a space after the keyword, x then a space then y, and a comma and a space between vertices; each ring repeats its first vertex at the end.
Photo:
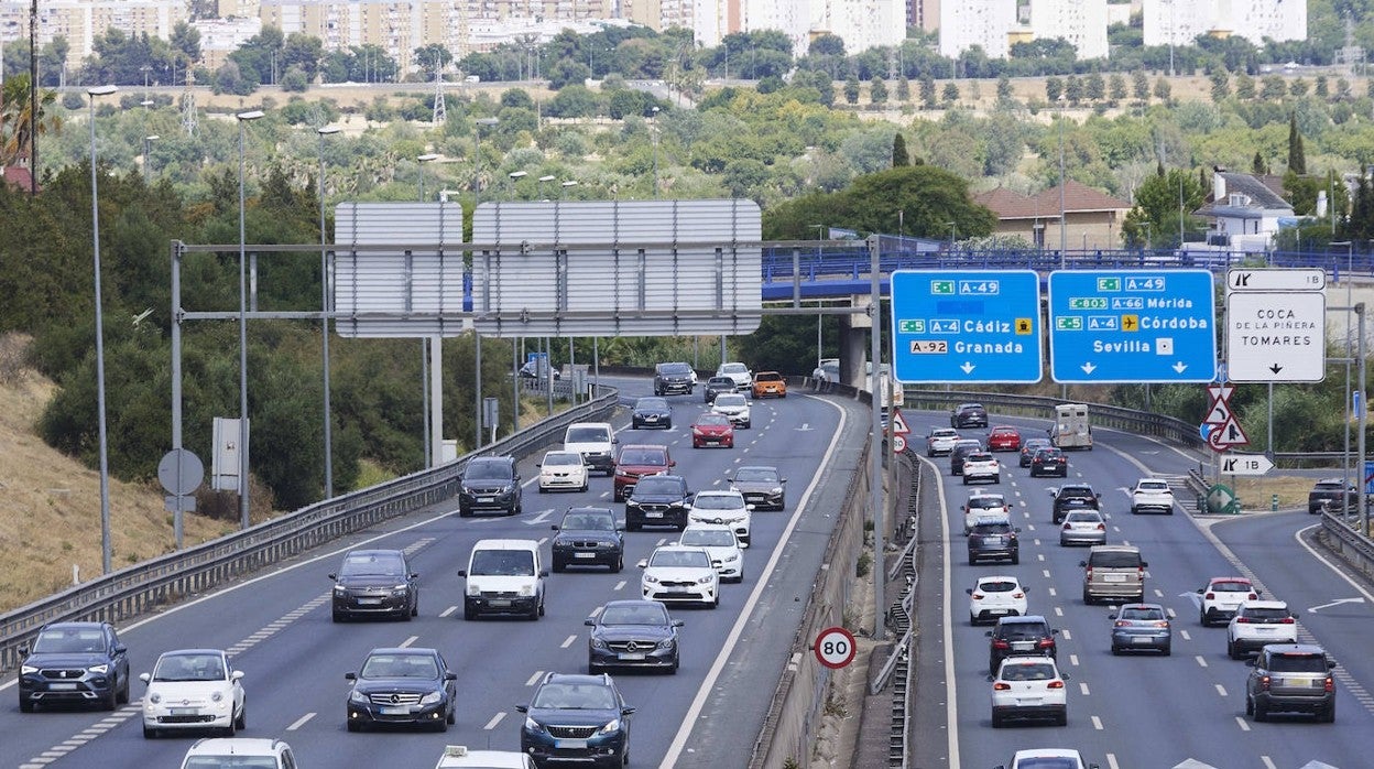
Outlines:
POLYGON ((1040 277, 1030 270, 892 274, 892 373, 903 384, 1037 382, 1040 277))

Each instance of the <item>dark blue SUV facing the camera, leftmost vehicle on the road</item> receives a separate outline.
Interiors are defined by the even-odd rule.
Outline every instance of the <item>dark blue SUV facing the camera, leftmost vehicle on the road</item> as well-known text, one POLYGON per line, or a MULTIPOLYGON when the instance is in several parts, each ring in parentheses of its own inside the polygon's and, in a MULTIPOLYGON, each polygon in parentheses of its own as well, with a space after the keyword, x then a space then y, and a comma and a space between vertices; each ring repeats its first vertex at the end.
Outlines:
POLYGON ((109 622, 55 622, 38 630, 19 667, 19 710, 38 704, 129 702, 129 655, 109 622))

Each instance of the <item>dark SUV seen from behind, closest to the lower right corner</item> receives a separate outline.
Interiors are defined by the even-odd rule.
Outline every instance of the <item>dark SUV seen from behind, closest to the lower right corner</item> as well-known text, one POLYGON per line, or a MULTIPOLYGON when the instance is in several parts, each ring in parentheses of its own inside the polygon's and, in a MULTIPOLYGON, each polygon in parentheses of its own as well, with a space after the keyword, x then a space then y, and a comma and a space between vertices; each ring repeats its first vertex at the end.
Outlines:
POLYGON ((1336 662, 1312 644, 1270 644, 1246 662, 1245 714, 1264 721, 1274 711, 1311 713, 1336 721, 1336 662))

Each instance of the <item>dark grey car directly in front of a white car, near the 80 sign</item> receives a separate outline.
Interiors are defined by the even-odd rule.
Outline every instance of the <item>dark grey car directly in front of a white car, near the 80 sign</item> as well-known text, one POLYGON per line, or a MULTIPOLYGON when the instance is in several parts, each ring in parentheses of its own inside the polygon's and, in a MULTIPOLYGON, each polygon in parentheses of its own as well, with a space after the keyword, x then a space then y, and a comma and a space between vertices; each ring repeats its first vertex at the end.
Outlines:
POLYGON ((680 619, 668 615, 658 601, 611 601, 595 619, 587 619, 587 671, 610 667, 650 667, 677 673, 680 619))

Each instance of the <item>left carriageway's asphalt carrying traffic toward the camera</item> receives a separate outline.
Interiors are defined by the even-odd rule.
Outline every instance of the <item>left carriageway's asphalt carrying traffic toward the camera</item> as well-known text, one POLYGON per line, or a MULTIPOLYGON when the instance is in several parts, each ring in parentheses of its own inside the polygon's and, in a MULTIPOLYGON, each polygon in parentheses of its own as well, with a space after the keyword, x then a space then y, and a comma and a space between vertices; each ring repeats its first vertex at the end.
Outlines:
MULTIPOLYGON (((613 384, 622 387, 622 403, 651 389, 646 380, 613 384)), ((631 759, 636 766, 742 768, 786 664, 834 510, 856 469, 856 448, 867 437, 866 413, 853 400, 794 392, 785 400, 754 402, 753 429, 736 433, 735 448, 692 450, 690 425, 705 409, 701 391, 669 400, 675 407, 672 431, 624 429, 628 414, 621 413, 620 442, 668 444, 692 490, 727 486, 724 473, 742 464, 778 465, 789 479, 787 509, 754 515, 746 579, 724 587, 719 609, 673 609, 686 620, 676 675, 616 675, 628 704, 639 708, 631 722, 631 759)), ((607 600, 639 597, 640 572, 633 564, 675 534, 628 532, 621 574, 551 575, 547 614, 539 622, 464 622, 463 581, 455 572, 467 565, 477 539, 547 541, 550 526, 573 505, 602 503, 622 515, 622 505, 610 502, 609 477, 594 477, 585 494, 537 494, 536 461, 521 462, 521 516, 459 519, 455 501, 121 626, 133 675, 148 671, 166 649, 228 649, 235 667, 245 671, 247 730, 242 736, 286 739, 306 769, 383 763, 427 769, 445 744, 518 750, 522 717, 515 706, 529 700, 545 671, 585 671, 588 629, 583 620, 607 600), (331 623, 327 574, 337 570, 345 550, 364 545, 409 553, 420 574, 416 619, 331 623), (357 670, 368 649, 397 645, 436 647, 459 671, 458 724, 448 733, 345 732, 349 686, 344 674, 357 670)), ((195 737, 146 740, 137 707, 142 693, 143 684, 135 681, 133 703, 114 713, 19 714, 14 682, 8 681, 0 686, 0 696, 7 697, 0 708, 0 765, 179 766, 195 737)))

